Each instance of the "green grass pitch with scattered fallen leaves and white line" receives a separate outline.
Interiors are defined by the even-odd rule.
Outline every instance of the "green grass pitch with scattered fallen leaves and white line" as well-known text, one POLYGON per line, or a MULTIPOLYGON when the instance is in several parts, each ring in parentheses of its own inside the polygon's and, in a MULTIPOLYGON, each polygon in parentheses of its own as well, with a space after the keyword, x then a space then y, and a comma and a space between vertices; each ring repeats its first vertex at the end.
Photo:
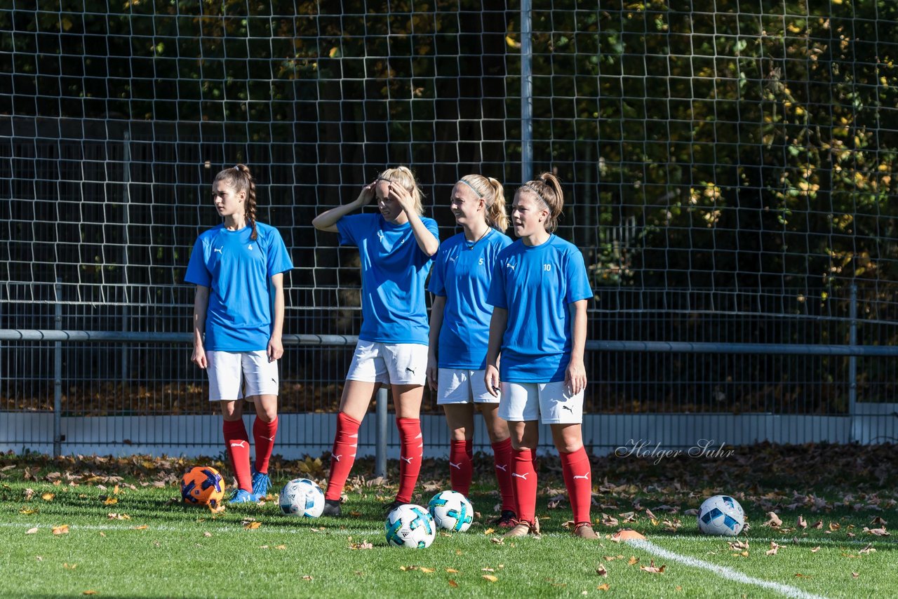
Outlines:
MULTIPOLYGON (((489 480, 489 464, 480 462, 477 479, 489 480)), ((645 462, 599 460, 594 517, 603 538, 585 542, 564 529, 570 517, 564 502, 548 508, 561 485, 556 464, 545 460, 541 539, 497 542, 499 533, 489 532, 497 497, 486 487, 471 494, 482 515, 469 532, 439 534, 427 550, 401 550, 384 540, 381 506, 394 488, 380 481, 354 480, 339 519, 279 515, 276 502, 213 515, 175 501, 179 491, 172 482, 186 464, 0 458, 0 595, 881 597, 898 585, 898 544, 864 531, 887 530, 896 516, 894 492, 873 490, 878 481, 863 489, 854 478, 858 469, 851 476, 822 474, 814 492, 801 489, 806 481, 800 476, 795 489, 777 486, 776 472, 763 469, 771 480, 755 478, 741 493, 727 489, 751 524, 727 540, 700 535, 695 517, 683 514, 724 490, 699 486, 707 469, 691 462, 658 470, 645 462), (607 481, 600 479, 602 470, 607 481), (768 511, 783 524, 763 526, 768 511), (798 515, 806 528, 797 526, 798 515), (613 542, 609 535, 622 527, 644 533, 647 542, 613 542), (775 555, 766 554, 771 541, 779 544, 775 555), (372 547, 356 548, 363 542, 372 547), (664 571, 644 569, 653 561, 664 571), (600 566, 606 576, 597 573, 600 566)), ((365 466, 358 471, 364 474, 365 466)), ((435 480, 444 467, 429 464, 420 503, 448 487, 435 480)), ((278 462, 276 487, 303 471, 317 478, 321 466, 278 462)))

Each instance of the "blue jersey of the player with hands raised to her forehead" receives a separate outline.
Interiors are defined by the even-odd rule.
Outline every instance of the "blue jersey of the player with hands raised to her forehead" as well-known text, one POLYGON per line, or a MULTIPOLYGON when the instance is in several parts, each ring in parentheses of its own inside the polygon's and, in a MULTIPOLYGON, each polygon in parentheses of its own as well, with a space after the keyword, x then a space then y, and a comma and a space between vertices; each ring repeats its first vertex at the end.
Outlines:
MULTIPOLYGON (((421 217, 439 239, 433 218, 421 217)), ((343 216, 339 242, 357 245, 362 259, 362 330, 358 338, 427 345, 424 281, 433 260, 418 247, 411 224, 393 225, 380 213, 343 216)))

